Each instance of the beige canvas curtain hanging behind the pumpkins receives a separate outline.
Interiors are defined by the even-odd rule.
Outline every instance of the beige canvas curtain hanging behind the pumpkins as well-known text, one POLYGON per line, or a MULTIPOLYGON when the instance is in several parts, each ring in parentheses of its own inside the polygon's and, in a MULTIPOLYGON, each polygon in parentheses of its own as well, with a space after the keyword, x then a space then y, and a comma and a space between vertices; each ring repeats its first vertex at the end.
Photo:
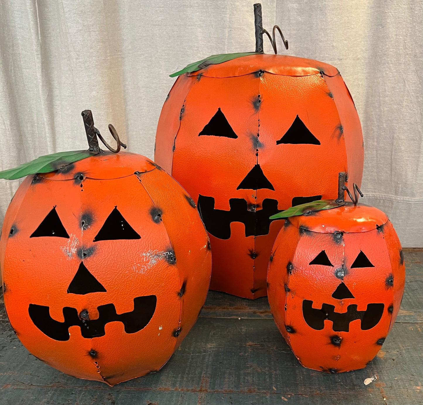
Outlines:
MULTIPOLYGON (((254 50, 253 1, 0 0, 0 170, 86 148, 81 111, 154 157, 168 75, 254 50)), ((363 125, 364 199, 423 246, 423 7, 414 0, 263 0, 289 53, 333 64, 363 125)), ((271 52, 265 40, 265 51, 271 52)), ((109 137, 110 139, 110 137, 109 137)), ((0 180, 0 221, 19 180, 0 180)))

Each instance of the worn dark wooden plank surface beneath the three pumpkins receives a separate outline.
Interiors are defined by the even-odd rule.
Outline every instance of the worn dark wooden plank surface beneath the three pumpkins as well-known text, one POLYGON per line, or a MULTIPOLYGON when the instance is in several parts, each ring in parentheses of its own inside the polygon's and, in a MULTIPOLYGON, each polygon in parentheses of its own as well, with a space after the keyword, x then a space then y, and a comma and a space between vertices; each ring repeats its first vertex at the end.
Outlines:
POLYGON ((200 319, 159 372, 110 388, 30 355, 1 301, 0 404, 423 404, 423 250, 405 250, 405 259, 396 325, 374 361, 342 374, 300 366, 266 297, 250 301, 210 291, 200 319))

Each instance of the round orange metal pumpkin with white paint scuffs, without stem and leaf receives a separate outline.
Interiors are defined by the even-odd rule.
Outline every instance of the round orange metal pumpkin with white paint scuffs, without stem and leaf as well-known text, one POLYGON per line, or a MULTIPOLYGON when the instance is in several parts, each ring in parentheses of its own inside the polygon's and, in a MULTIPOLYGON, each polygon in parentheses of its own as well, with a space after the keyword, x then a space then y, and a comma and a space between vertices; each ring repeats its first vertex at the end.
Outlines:
POLYGON ((62 372, 114 385, 160 369, 206 299, 211 253, 195 204, 166 172, 104 153, 30 175, 2 231, 16 335, 62 372))

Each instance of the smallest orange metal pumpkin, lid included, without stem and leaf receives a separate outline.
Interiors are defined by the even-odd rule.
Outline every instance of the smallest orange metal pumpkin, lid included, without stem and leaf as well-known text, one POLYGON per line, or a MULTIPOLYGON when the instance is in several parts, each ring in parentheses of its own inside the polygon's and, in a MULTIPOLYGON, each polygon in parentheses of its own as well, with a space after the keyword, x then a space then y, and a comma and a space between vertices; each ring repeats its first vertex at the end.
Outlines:
POLYGON ((285 221, 269 263, 269 304, 303 366, 362 369, 395 322, 404 279, 387 216, 349 204, 285 221))

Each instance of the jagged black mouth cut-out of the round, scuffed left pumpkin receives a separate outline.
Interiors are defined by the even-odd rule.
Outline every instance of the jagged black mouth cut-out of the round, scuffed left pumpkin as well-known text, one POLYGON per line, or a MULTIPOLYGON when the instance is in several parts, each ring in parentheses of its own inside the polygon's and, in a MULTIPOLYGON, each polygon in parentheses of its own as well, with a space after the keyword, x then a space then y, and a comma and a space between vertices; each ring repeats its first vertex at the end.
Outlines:
MULTIPOLYGON (((134 298, 134 309, 131 312, 116 313, 114 304, 97 307, 97 319, 80 319, 75 308, 64 307, 64 322, 58 322, 50 316, 47 306, 29 304, 28 313, 36 327, 44 335, 58 341, 69 340, 69 327, 79 326, 83 338, 91 339, 105 335, 104 326, 109 322, 122 322, 126 333, 136 333, 146 327, 156 311, 157 297, 148 295, 134 298)), ((97 353, 96 353, 97 354, 97 353)))

